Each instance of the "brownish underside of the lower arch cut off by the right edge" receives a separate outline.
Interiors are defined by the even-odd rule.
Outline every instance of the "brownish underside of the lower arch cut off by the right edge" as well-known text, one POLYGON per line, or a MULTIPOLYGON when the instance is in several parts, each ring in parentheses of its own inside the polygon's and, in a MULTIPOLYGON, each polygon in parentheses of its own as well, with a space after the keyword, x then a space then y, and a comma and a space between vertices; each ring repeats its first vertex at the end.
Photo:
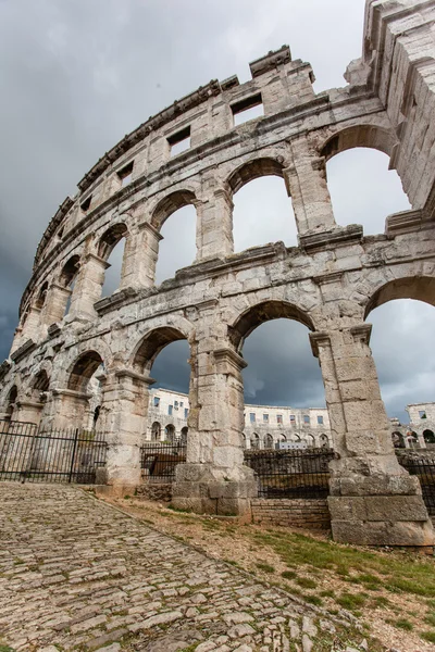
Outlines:
POLYGON ((409 276, 385 283, 368 299, 364 319, 372 310, 395 299, 414 299, 435 306, 435 277, 409 276))

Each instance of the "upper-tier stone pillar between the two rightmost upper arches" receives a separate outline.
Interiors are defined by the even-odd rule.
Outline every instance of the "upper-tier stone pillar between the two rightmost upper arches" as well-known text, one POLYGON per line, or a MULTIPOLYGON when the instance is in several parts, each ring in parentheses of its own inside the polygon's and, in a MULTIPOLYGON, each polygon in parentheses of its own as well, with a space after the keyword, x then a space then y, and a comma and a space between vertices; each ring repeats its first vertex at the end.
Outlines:
POLYGON ((326 183, 325 159, 318 156, 304 136, 291 140, 291 152, 293 165, 283 172, 299 236, 332 230, 337 225, 326 183))

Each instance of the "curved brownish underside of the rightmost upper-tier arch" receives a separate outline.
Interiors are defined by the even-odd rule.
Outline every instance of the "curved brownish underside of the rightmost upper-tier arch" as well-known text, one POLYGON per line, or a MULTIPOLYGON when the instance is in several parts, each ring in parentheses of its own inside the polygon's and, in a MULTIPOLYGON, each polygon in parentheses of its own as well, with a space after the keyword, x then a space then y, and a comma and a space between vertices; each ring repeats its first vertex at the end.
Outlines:
POLYGON ((393 130, 385 125, 351 125, 336 130, 321 145, 319 152, 325 161, 357 147, 376 149, 390 156, 395 142, 396 137, 393 130))

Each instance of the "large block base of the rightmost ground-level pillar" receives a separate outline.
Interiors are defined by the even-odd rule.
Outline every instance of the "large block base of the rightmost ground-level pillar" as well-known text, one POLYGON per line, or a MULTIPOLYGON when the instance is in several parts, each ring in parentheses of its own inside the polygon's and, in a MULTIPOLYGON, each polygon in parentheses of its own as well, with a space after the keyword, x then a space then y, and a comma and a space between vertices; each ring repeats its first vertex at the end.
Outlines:
POLYGON ((333 478, 331 492, 327 502, 334 541, 414 548, 435 544, 418 478, 333 478))

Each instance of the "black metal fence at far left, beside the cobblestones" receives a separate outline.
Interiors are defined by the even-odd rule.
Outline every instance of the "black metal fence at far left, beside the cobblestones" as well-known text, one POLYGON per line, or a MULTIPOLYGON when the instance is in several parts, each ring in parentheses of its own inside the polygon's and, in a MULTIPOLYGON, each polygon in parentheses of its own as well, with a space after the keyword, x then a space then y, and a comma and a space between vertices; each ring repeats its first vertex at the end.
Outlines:
POLYGON ((0 422, 0 480, 95 484, 107 450, 96 432, 0 422))

